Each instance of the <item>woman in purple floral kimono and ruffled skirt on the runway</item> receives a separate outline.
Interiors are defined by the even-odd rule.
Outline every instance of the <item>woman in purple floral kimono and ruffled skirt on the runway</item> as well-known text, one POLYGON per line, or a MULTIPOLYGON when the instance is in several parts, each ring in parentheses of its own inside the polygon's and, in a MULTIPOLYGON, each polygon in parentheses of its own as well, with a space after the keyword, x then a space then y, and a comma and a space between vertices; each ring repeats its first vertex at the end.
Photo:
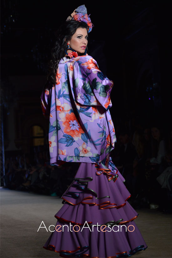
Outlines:
POLYGON ((50 163, 80 163, 43 247, 61 257, 127 257, 147 245, 133 221, 138 214, 127 202, 124 178, 109 158, 116 142, 109 113, 113 82, 86 54, 91 28, 85 6, 61 26, 41 95, 50 163), (121 224, 121 232, 114 232, 121 224), (135 229, 126 232, 124 225, 135 229))

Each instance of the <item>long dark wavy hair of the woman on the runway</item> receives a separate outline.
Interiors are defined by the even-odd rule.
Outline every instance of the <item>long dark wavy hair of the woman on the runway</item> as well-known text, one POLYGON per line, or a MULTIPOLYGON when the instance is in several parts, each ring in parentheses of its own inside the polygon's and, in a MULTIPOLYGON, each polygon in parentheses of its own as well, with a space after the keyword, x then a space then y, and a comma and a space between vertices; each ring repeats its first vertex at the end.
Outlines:
POLYGON ((56 32, 56 41, 51 51, 51 59, 48 62, 47 80, 53 84, 56 84, 56 73, 58 64, 65 56, 65 52, 68 48, 67 42, 71 40, 73 34, 78 28, 86 28, 88 25, 85 22, 78 22, 75 20, 69 20, 63 23, 56 32))

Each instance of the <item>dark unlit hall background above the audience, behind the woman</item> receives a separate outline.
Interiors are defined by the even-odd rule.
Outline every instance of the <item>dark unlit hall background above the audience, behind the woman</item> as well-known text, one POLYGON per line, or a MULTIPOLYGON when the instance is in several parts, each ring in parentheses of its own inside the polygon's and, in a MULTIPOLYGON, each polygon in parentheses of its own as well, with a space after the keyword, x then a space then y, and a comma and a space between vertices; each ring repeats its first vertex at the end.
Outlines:
MULTIPOLYGON (((54 32, 79 5, 94 24, 89 54, 114 81, 114 127, 158 121, 171 126, 171 8, 169 1, 1 1, 1 141, 5 157, 28 153, 33 125, 48 140, 40 94, 54 32)), ((134 126, 130 127, 130 133, 134 126)), ((1 150, 2 151, 2 150, 1 150)))

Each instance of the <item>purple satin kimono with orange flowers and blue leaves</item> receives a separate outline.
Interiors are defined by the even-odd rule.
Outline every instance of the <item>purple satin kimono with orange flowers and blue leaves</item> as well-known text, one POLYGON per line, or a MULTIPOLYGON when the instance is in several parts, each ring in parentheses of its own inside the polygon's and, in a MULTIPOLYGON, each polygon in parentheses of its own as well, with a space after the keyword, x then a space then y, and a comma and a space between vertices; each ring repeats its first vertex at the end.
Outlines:
POLYGON ((91 56, 60 60, 56 84, 46 83, 41 94, 51 165, 106 159, 116 142, 109 112, 112 86, 91 56))

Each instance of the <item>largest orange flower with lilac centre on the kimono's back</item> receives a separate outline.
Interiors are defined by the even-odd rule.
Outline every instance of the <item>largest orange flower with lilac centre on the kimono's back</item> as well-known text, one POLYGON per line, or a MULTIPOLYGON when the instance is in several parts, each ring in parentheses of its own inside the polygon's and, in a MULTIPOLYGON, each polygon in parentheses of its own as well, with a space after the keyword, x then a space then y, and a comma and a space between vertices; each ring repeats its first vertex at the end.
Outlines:
POLYGON ((66 114, 62 119, 64 126, 64 133, 71 135, 75 140, 81 139, 81 134, 84 133, 80 127, 74 113, 66 114))

